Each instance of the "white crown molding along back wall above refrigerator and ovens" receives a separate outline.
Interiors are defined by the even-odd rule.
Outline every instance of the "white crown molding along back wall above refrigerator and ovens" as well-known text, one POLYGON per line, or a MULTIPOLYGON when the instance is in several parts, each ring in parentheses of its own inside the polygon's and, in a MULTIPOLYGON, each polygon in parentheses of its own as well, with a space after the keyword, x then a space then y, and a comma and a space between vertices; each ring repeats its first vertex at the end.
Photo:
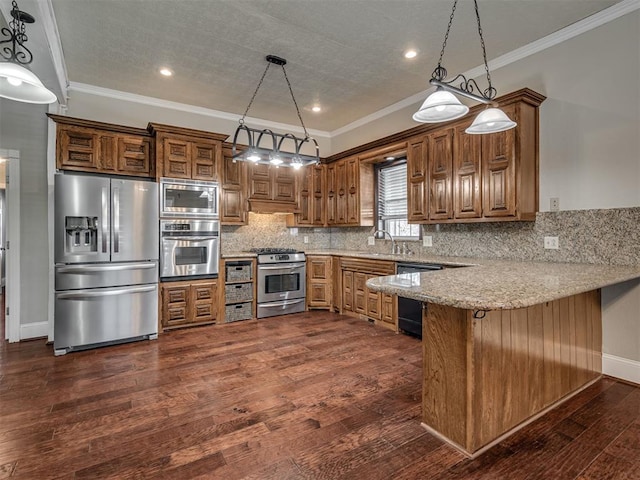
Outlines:
MULTIPOLYGON (((240 118, 240 115, 235 113, 223 112, 221 110, 198 107, 195 105, 188 105, 186 103, 172 102, 170 100, 163 100, 161 98, 147 97, 145 95, 122 92, 120 90, 112 90, 110 88, 97 87, 95 85, 88 85, 86 83, 71 82, 69 84, 69 91, 79 92, 79 93, 88 93, 91 95, 113 98, 115 100, 123 100, 126 102, 140 103, 140 104, 149 105, 152 107, 168 108, 171 110, 178 110, 180 112, 195 113, 197 115, 203 115, 205 117, 217 118, 221 120, 229 120, 233 122, 237 122, 240 118)), ((269 120, 263 120, 255 117, 246 117, 245 123, 258 125, 261 128, 271 128, 274 130, 284 130, 284 131, 291 131, 291 132, 297 132, 297 133, 304 133, 304 130, 300 125, 289 125, 286 123, 272 122, 269 120)), ((309 135, 315 138, 319 138, 319 137, 329 138, 329 132, 326 132, 323 130, 307 129, 307 131, 309 132, 309 135)))

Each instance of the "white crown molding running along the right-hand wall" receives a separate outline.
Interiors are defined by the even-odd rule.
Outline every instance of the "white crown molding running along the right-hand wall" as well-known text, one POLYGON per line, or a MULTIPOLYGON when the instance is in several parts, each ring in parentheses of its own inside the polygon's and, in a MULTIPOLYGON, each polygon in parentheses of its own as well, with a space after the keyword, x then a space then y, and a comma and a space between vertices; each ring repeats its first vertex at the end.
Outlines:
MULTIPOLYGON (((536 40, 535 42, 525 45, 524 47, 517 48, 509 53, 505 53, 504 55, 491 60, 489 62, 489 69, 493 71, 497 70, 498 68, 505 67, 511 63, 517 62, 518 60, 522 60, 523 58, 529 57, 535 53, 541 52, 542 50, 546 50, 547 48, 558 45, 573 37, 577 37, 578 35, 593 30, 594 28, 616 20, 617 18, 634 12, 638 9, 640 9, 640 0, 623 0, 622 2, 616 3, 615 5, 605 10, 594 13, 593 15, 583 20, 569 25, 562 30, 558 30, 557 32, 554 32, 550 35, 547 35, 546 37, 542 37, 541 39, 536 40)), ((463 75, 467 78, 477 78, 483 74, 484 65, 478 65, 477 67, 474 67, 463 73, 463 75)), ((377 112, 359 118, 354 122, 333 130, 329 132, 329 136, 335 137, 337 135, 342 135, 344 133, 350 132, 351 130, 362 127, 368 123, 379 120, 391 113, 397 112, 398 110, 402 110, 403 108, 420 103, 424 101, 424 99, 433 91, 435 91, 435 88, 430 87, 420 93, 411 95, 410 97, 407 97, 404 100, 400 100, 393 105, 389 105, 382 110, 378 110, 377 112)))

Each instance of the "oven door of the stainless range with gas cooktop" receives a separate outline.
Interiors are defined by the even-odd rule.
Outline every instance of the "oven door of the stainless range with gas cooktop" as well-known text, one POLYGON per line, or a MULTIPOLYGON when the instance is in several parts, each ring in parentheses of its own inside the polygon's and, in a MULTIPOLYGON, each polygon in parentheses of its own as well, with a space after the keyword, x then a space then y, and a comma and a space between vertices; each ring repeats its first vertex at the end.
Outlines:
POLYGON ((304 298, 305 264, 258 265, 258 303, 304 298))

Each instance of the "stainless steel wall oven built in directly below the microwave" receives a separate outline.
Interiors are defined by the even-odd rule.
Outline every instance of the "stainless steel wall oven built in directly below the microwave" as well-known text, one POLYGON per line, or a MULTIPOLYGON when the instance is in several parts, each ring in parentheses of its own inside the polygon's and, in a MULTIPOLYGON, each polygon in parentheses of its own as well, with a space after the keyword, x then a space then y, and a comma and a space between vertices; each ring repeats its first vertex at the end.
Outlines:
POLYGON ((160 235, 163 280, 218 275, 219 221, 161 220, 160 235))

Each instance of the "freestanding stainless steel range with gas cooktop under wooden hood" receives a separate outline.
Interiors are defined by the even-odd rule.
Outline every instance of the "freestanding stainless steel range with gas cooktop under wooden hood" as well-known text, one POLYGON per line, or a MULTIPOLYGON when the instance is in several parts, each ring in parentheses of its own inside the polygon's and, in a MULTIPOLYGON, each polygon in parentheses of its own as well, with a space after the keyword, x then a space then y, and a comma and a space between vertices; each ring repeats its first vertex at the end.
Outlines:
POLYGON ((252 250, 258 253, 257 317, 304 312, 306 259, 286 248, 252 250))

